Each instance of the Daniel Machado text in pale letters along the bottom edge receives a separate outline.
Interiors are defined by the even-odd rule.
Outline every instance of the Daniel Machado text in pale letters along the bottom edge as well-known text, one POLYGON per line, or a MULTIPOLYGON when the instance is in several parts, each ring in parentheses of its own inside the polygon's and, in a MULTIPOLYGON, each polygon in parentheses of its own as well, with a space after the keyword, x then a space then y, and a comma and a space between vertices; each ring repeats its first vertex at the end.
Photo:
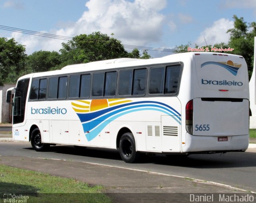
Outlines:
POLYGON ((256 194, 248 193, 212 193, 190 194, 190 202, 256 202, 256 194))

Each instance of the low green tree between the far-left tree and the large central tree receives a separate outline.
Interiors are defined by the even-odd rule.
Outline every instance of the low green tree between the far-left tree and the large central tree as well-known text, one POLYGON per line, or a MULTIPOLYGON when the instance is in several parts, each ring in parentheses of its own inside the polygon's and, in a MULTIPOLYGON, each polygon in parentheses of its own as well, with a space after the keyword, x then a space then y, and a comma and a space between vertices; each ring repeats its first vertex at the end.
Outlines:
POLYGON ((26 60, 27 73, 44 72, 60 65, 60 54, 58 52, 38 51, 29 55, 26 60))

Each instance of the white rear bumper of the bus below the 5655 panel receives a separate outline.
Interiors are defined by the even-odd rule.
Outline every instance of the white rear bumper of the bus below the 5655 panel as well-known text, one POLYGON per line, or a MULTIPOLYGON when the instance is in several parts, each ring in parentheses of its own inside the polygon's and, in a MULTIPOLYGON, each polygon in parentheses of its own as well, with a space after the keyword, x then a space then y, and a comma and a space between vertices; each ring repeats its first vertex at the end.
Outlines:
POLYGON ((182 144, 182 152, 221 152, 242 151, 248 148, 249 135, 227 136, 228 141, 218 141, 221 136, 196 136, 186 133, 185 144, 182 144))

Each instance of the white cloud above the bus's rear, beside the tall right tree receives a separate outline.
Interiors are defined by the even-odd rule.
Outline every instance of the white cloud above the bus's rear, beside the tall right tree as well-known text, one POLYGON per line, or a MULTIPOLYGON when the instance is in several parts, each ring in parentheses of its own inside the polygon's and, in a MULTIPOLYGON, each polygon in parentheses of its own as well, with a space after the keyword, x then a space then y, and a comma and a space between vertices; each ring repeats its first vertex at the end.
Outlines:
POLYGON ((216 43, 225 42, 228 43, 230 34, 226 33, 228 29, 234 27, 234 22, 225 18, 216 20, 211 27, 206 28, 200 33, 200 36, 196 40, 198 46, 214 45, 216 43), (205 40, 206 42, 205 42, 205 40))

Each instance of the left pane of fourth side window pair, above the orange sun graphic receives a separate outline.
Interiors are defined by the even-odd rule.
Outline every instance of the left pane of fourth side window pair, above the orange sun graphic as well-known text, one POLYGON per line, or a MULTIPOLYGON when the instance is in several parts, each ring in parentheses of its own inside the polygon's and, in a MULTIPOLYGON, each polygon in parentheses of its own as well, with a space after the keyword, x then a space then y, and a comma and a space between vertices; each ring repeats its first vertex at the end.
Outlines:
POLYGON ((93 74, 92 79, 92 96, 103 96, 104 90, 104 73, 93 74))

